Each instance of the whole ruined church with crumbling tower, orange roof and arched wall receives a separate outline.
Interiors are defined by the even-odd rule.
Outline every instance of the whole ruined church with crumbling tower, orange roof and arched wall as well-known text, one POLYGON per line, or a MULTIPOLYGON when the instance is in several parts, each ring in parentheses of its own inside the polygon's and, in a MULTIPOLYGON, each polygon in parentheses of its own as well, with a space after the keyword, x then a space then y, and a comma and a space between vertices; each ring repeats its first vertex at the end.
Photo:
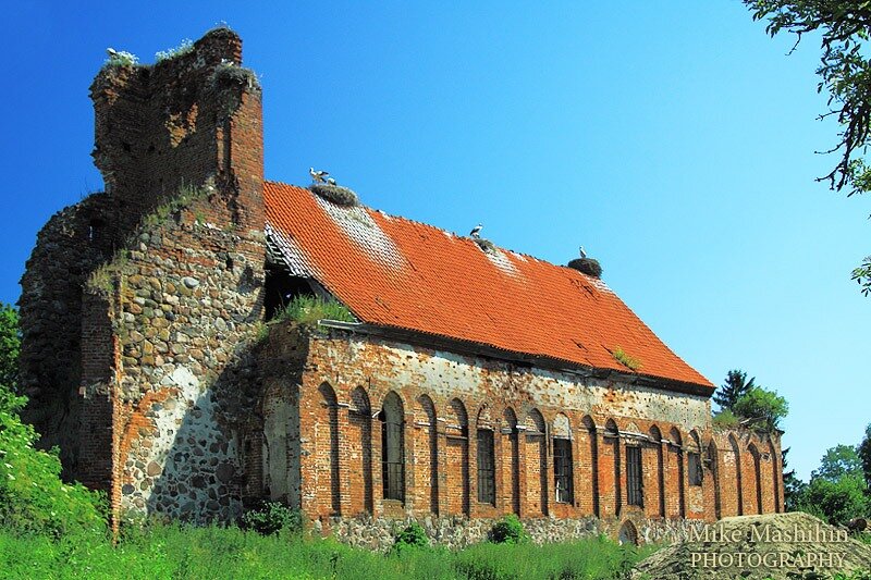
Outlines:
POLYGON ((778 434, 712 425, 713 385, 594 271, 265 181, 232 30, 90 95, 106 192, 39 232, 22 385, 116 517, 272 499, 355 543, 416 519, 461 545, 512 513, 643 542, 783 510, 778 434), (298 295, 353 321, 266 323, 298 295))

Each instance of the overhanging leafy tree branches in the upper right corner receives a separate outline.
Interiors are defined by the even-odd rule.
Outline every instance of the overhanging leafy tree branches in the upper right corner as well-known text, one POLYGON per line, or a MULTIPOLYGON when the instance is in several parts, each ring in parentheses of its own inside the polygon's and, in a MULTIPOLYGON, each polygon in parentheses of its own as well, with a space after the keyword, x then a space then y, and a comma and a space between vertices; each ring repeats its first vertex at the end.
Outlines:
MULTIPOLYGON (((871 2, 863 0, 743 0, 753 20, 768 20, 765 30, 796 35, 796 46, 808 33, 820 33, 820 83, 817 91, 829 94, 829 110, 820 119, 834 116, 842 126, 837 144, 826 153, 839 160, 826 175, 834 190, 847 196, 871 190, 871 165, 863 156, 871 143, 871 58, 866 44, 871 38, 871 2)), ((795 49, 795 47, 793 47, 795 49)), ((852 271, 862 294, 871 294, 871 256, 852 271)))

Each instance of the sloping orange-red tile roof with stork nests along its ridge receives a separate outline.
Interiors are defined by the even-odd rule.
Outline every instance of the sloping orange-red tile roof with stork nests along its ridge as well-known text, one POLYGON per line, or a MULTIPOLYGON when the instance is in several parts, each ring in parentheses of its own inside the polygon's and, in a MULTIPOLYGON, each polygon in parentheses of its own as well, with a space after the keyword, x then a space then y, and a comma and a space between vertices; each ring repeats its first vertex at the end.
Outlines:
POLYGON ((600 280, 308 189, 267 182, 267 231, 363 322, 712 388, 600 280))

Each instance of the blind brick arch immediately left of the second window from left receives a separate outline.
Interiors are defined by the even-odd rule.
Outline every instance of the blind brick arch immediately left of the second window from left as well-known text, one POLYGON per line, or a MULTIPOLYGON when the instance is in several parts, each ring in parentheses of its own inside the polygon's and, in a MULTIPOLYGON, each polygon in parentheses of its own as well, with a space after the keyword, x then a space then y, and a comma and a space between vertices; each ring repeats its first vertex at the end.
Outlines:
POLYGON ((469 418, 466 405, 454 397, 445 408, 445 492, 449 514, 469 515, 469 418))

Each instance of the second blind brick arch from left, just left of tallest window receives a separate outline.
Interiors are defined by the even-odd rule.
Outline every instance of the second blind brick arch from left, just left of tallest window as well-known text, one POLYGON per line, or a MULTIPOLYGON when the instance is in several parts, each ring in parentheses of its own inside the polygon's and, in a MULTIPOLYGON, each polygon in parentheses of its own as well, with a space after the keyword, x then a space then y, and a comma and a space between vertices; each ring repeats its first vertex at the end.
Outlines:
POLYGON ((348 396, 347 479, 351 515, 372 513, 372 406, 369 393, 356 386, 348 396))

